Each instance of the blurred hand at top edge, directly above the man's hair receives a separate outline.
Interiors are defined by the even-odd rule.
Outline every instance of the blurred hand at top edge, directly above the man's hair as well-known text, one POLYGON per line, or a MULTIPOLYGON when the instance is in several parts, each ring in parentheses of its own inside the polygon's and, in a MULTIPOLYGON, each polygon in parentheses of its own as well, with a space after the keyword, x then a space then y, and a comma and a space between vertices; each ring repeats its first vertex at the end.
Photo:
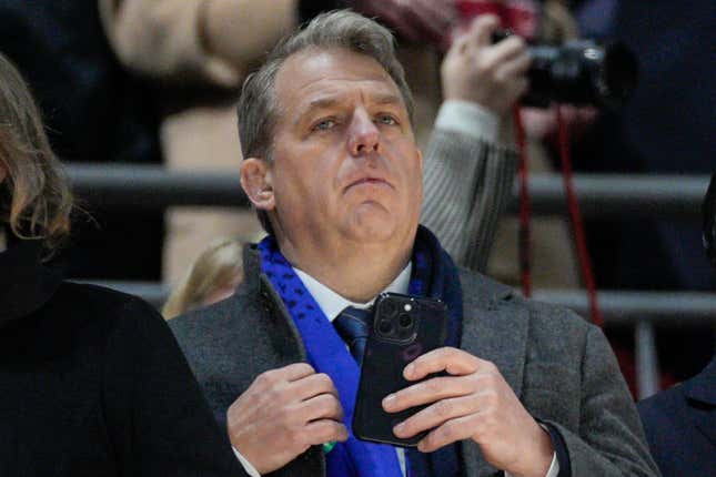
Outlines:
POLYGON ((457 22, 454 0, 352 0, 366 17, 377 17, 414 43, 441 43, 457 22))

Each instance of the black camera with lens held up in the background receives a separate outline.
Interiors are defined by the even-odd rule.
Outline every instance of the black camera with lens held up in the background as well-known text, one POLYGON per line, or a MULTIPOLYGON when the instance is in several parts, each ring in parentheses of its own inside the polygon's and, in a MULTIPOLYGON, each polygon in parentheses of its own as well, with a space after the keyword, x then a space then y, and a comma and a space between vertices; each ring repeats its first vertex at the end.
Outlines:
MULTIPOLYGON (((501 30, 493 42, 507 38, 501 30)), ((531 45, 530 91, 522 104, 546 108, 551 102, 618 108, 632 95, 638 80, 634 53, 622 42, 604 45, 576 40, 559 47, 531 45)))

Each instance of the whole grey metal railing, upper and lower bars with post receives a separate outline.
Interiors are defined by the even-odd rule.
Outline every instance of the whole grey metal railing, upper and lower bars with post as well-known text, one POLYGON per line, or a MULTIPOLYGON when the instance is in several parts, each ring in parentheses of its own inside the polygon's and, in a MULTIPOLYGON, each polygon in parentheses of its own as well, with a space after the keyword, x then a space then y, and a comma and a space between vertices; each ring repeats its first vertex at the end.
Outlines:
MULTIPOLYGON (((75 192, 90 205, 119 210, 163 210, 170 206, 245 207, 248 201, 234 175, 212 171, 168 171, 161 166, 71 164, 75 192)), ((586 217, 638 216, 696 221, 708 185, 707 175, 579 175, 575 189, 586 217)), ((516 185, 510 212, 517 209, 516 185)), ((530 193, 536 215, 566 211, 562 177, 534 175, 530 193)), ((696 246, 696 244, 695 244, 696 246)), ((94 282, 98 283, 98 282, 94 282)), ((155 306, 169 290, 158 283, 101 282, 139 295, 155 306)), ((536 291, 535 298, 588 315, 581 291, 536 291)), ((716 326, 716 294, 694 292, 599 291, 598 301, 609 326, 634 326, 638 396, 658 390, 654 325, 712 324, 716 326)))

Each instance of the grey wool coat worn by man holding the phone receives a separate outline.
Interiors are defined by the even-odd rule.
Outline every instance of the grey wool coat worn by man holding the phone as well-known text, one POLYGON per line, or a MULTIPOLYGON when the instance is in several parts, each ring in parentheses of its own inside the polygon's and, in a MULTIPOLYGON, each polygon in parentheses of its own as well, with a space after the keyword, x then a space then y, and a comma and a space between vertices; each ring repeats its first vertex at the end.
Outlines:
MULTIPOLYGON (((305 362, 281 298, 246 250, 245 281, 234 296, 170 323, 216 418, 261 373, 305 362)), ((461 347, 493 362, 526 409, 566 443, 573 477, 658 476, 632 397, 601 329, 576 314, 525 300, 480 274, 461 271, 461 347)), ((466 476, 501 475, 472 440, 462 443, 466 476)), ((320 447, 275 476, 324 476, 320 447)))

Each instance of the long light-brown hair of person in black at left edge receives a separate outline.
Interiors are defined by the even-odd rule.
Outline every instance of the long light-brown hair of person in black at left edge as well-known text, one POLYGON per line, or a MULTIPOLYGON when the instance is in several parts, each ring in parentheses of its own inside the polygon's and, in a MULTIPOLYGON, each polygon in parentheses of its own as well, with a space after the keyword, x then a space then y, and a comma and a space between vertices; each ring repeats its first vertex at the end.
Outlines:
POLYGON ((20 72, 0 54, 0 221, 49 251, 70 233, 72 193, 20 72))

